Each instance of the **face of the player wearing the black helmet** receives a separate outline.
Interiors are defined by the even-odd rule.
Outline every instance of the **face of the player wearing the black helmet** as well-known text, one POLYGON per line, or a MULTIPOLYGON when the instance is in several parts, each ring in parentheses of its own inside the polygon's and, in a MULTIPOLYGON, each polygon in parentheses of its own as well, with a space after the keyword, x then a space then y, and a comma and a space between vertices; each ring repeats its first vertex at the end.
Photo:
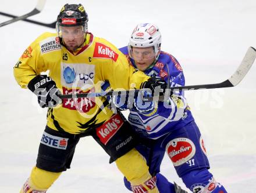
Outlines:
POLYGON ((67 49, 75 51, 84 42, 84 31, 81 26, 61 27, 62 39, 67 49))

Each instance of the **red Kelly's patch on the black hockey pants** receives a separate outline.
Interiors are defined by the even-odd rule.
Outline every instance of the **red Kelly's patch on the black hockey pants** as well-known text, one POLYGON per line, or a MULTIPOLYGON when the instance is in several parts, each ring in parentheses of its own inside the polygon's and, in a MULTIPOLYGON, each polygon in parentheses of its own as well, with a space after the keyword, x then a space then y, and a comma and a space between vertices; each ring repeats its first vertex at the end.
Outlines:
POLYGON ((102 126, 96 129, 99 140, 106 145, 108 141, 115 135, 123 125, 123 120, 119 114, 113 115, 111 119, 106 121, 102 126))

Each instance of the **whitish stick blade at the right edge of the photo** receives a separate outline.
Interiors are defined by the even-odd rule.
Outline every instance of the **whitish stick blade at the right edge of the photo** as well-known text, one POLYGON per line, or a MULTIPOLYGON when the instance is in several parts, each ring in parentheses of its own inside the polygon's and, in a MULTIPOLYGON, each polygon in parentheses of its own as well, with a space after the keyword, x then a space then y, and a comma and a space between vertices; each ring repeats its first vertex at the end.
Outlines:
POLYGON ((248 48, 243 61, 237 68, 236 72, 228 79, 233 86, 236 86, 241 82, 241 80, 246 76, 247 72, 250 70, 256 58, 256 49, 253 47, 248 48))

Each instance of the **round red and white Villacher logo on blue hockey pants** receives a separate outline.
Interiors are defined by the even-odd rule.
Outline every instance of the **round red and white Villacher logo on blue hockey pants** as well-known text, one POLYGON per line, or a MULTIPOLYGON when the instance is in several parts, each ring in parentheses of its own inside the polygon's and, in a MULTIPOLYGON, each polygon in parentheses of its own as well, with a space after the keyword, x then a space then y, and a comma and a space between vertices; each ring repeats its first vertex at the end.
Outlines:
POLYGON ((166 145, 166 152, 174 166, 182 165, 195 155, 195 145, 187 138, 176 138, 166 145))

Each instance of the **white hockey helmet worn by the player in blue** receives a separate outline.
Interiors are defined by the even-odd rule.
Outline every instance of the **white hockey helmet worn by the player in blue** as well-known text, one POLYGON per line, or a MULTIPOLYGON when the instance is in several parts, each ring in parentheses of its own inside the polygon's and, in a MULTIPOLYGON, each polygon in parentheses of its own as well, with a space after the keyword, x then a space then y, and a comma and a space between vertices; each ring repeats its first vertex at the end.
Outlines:
POLYGON ((134 59, 131 52, 133 47, 148 48, 154 46, 154 57, 157 60, 161 49, 161 39, 161 32, 155 24, 138 24, 131 33, 128 44, 129 56, 134 59))

